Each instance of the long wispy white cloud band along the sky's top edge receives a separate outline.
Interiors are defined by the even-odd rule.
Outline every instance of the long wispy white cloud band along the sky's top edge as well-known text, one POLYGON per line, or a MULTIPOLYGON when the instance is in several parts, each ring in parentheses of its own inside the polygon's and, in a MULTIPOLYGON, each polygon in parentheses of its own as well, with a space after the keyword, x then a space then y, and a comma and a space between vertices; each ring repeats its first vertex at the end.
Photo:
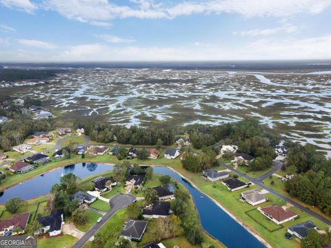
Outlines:
POLYGON ((173 19, 183 15, 222 12, 237 13, 244 17, 291 17, 301 12, 318 14, 331 6, 329 0, 208 0, 177 4, 148 0, 131 2, 133 6, 117 5, 108 0, 44 0, 43 6, 68 19, 91 24, 105 23, 115 18, 173 19))

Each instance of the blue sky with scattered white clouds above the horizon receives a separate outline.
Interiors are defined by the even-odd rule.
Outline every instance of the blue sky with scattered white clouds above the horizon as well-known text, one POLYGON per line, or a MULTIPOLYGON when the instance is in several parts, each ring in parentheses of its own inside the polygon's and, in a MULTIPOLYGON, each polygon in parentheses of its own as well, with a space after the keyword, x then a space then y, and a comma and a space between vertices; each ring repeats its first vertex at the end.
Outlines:
POLYGON ((331 59, 331 0, 0 0, 0 61, 331 59))

